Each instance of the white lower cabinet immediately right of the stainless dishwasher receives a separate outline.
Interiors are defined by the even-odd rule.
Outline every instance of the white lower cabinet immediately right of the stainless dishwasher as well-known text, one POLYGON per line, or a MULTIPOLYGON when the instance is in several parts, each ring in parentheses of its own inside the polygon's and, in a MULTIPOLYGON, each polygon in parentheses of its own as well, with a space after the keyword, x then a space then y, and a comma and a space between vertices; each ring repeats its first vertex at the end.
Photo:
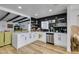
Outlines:
POLYGON ((67 47, 67 34, 54 33, 54 44, 62 47, 67 47))

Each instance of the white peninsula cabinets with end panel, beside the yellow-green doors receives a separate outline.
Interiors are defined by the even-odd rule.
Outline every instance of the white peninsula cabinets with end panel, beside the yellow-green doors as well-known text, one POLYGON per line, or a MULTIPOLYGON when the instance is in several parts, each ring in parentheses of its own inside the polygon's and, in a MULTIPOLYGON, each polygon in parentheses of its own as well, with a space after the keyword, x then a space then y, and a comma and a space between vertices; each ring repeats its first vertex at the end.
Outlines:
POLYGON ((18 49, 36 41, 37 39, 36 33, 14 33, 12 39, 12 45, 18 49))

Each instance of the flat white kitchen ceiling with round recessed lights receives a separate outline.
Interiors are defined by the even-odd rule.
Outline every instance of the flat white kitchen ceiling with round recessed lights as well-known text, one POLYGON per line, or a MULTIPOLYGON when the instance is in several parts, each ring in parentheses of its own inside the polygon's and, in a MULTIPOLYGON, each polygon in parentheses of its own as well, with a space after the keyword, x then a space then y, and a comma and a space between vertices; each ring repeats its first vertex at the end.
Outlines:
MULTIPOLYGON (((29 15, 34 18, 41 18, 50 15, 56 15, 67 12, 66 4, 0 4, 1 7, 11 9, 13 11, 29 15), (18 7, 22 7, 22 9, 18 7), (51 10, 52 11, 51 11, 51 10), (50 12, 49 12, 50 10, 50 12)), ((1 11, 0 11, 1 13, 1 11)), ((2 13, 1 13, 2 14, 2 13)), ((0 14, 0 17, 3 15, 0 14)), ((5 14, 5 13, 4 13, 5 14)), ((9 15, 14 17, 15 15, 9 15)), ((8 19, 8 18, 7 18, 8 19)), ((10 19, 10 18, 9 18, 10 19)))

